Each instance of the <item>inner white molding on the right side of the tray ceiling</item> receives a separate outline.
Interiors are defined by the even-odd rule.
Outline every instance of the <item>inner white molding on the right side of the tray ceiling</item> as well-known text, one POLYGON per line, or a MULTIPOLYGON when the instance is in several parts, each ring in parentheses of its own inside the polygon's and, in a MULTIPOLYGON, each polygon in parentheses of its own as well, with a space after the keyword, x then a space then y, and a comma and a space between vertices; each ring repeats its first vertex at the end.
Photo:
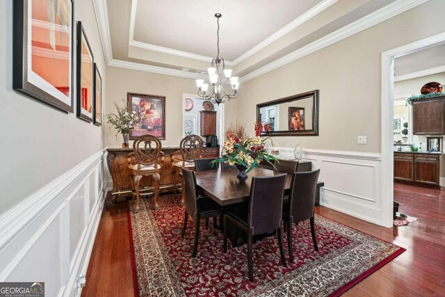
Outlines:
POLYGON ((321 13, 326 8, 329 8, 330 6, 332 6, 332 4, 336 3, 337 1, 338 0, 323 0, 323 1, 321 1, 320 3, 318 3, 313 8, 307 10, 306 13, 303 13, 302 15, 300 15, 300 17, 297 17, 292 22, 290 22, 289 24, 284 26, 282 29, 280 29, 277 32, 273 33, 272 35, 270 35, 265 40, 259 42, 258 45, 255 45, 254 47, 252 47, 252 49, 246 51, 244 54, 242 54, 241 56, 236 58, 233 61, 234 65, 236 65, 238 63, 241 63, 246 58, 249 58, 253 54, 256 54, 258 51, 261 51, 261 49, 264 49, 265 47, 267 47, 271 43, 273 43, 276 40, 282 38, 284 35, 286 35, 287 33, 291 32, 293 29, 296 29, 298 26, 300 26, 304 22, 307 22, 309 19, 312 19, 312 17, 315 17, 316 15, 318 15, 318 13, 321 13))

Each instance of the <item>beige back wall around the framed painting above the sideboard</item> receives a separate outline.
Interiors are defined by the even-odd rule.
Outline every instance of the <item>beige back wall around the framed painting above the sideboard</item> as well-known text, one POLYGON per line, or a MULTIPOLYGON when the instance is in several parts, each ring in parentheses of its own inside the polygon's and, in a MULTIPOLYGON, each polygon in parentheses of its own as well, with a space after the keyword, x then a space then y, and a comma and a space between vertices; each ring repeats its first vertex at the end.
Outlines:
MULTIPOLYGON (((143 71, 127 70, 118 67, 107 67, 106 88, 107 100, 105 113, 115 113, 113 102, 122 106, 127 102, 127 93, 142 93, 165 96, 165 141, 163 145, 179 145, 182 135, 182 95, 196 93, 193 79, 170 77, 143 71)), ((116 130, 106 124, 106 146, 122 147, 122 135, 115 137, 116 130)), ((131 145, 132 142, 130 142, 131 145)))

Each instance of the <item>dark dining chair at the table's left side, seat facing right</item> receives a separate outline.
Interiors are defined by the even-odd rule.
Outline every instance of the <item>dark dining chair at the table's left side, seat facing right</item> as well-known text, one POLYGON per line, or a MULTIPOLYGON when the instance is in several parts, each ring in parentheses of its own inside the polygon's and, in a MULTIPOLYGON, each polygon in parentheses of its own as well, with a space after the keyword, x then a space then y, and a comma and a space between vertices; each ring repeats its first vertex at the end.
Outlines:
POLYGON ((188 216, 195 220, 195 240, 193 242, 192 257, 196 257, 197 242, 200 237, 200 221, 202 218, 215 218, 223 216, 225 207, 221 207, 218 203, 209 197, 198 195, 195 172, 186 168, 181 168, 182 179, 184 181, 184 193, 186 195, 186 211, 184 218, 184 227, 182 228, 182 238, 186 234, 188 216))

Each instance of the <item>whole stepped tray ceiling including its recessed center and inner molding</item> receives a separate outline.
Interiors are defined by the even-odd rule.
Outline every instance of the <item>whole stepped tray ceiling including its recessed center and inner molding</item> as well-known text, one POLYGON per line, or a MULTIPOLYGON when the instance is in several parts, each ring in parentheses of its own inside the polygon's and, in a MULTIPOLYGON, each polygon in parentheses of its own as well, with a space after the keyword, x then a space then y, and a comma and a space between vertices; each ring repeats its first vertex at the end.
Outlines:
MULTIPOLYGON (((421 3, 421 1, 418 1, 421 3)), ((362 19, 389 10, 401 13, 401 0, 93 0, 99 23, 106 22, 104 50, 122 67, 193 77, 216 56, 216 17, 220 18, 220 57, 234 74, 263 71, 281 58, 362 19), (101 19, 102 15, 108 18, 101 19), (127 64, 122 64, 127 63, 127 64), (130 65, 131 64, 131 65, 130 65), (182 69, 188 69, 182 71, 182 69), (167 71, 165 71, 167 70, 167 71), (172 70, 173 72, 171 72, 172 70), (170 71, 170 72, 169 72, 170 71)), ((406 8, 408 9, 408 8, 406 8)), ((372 16, 373 23, 375 16, 372 16)), ((358 25, 357 25, 358 23, 358 25)), ((344 31, 344 30, 343 30, 344 31)), ((348 33, 341 33, 348 35, 348 33)), ((104 33, 102 33, 104 37, 104 33)), ((327 38, 329 40, 329 38, 327 38)), ((118 66, 119 67, 119 66, 118 66)), ((275 66, 274 66, 275 67, 275 66)), ((258 74, 255 74, 258 75, 258 74)))

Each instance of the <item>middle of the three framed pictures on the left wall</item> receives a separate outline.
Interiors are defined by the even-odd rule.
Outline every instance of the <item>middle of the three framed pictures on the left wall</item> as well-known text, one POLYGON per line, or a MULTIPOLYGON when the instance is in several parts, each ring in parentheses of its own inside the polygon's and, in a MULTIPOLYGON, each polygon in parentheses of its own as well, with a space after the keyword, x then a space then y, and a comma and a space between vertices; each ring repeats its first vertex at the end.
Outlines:
POLYGON ((92 122, 94 99, 94 57, 81 22, 77 22, 77 118, 92 122))

